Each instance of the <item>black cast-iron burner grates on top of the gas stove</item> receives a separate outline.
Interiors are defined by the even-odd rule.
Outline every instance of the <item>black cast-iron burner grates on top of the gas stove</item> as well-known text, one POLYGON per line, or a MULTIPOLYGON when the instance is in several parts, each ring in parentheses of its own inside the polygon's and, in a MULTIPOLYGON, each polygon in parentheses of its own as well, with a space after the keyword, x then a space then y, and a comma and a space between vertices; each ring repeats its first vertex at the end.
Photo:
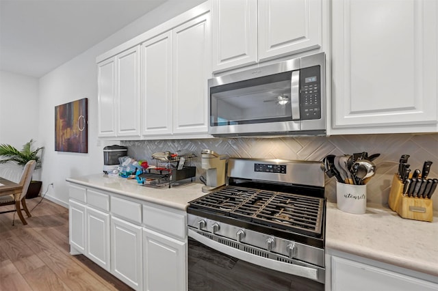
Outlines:
POLYGON ((226 186, 190 202, 190 207, 281 230, 319 235, 324 199, 226 186))

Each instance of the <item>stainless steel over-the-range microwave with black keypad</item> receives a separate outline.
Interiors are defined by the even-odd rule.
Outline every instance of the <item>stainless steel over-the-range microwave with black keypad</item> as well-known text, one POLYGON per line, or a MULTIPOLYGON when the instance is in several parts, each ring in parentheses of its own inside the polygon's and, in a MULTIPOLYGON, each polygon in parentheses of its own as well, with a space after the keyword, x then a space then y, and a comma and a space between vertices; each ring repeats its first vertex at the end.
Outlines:
POLYGON ((209 134, 326 135, 325 53, 209 79, 209 134))

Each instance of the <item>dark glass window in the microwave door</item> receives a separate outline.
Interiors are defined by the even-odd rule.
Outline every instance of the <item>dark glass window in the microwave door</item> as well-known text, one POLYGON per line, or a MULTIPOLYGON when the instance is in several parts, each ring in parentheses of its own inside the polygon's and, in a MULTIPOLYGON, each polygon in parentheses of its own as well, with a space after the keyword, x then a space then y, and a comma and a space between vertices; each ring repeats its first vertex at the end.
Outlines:
POLYGON ((292 71, 210 88, 210 125, 292 121, 292 71))

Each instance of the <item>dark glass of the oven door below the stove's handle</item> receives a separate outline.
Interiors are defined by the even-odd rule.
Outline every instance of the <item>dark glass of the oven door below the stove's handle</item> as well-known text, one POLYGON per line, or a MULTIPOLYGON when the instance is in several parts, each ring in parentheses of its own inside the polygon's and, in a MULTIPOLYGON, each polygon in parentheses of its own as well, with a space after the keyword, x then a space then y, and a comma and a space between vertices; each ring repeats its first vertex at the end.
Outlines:
POLYGON ((324 290, 311 279, 238 260, 189 238, 188 290, 324 290))

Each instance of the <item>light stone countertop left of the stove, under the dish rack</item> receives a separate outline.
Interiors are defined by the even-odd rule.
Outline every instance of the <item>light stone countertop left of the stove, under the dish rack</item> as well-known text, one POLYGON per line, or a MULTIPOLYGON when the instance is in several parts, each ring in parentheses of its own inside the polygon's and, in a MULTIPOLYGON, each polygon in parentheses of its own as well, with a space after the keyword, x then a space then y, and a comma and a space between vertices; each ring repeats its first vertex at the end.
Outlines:
POLYGON ((66 181, 183 211, 187 208, 188 202, 206 194, 202 191, 204 185, 199 183, 189 182, 172 185, 170 189, 167 186, 157 189, 151 186, 142 186, 135 179, 128 180, 105 174, 67 178, 66 181))

